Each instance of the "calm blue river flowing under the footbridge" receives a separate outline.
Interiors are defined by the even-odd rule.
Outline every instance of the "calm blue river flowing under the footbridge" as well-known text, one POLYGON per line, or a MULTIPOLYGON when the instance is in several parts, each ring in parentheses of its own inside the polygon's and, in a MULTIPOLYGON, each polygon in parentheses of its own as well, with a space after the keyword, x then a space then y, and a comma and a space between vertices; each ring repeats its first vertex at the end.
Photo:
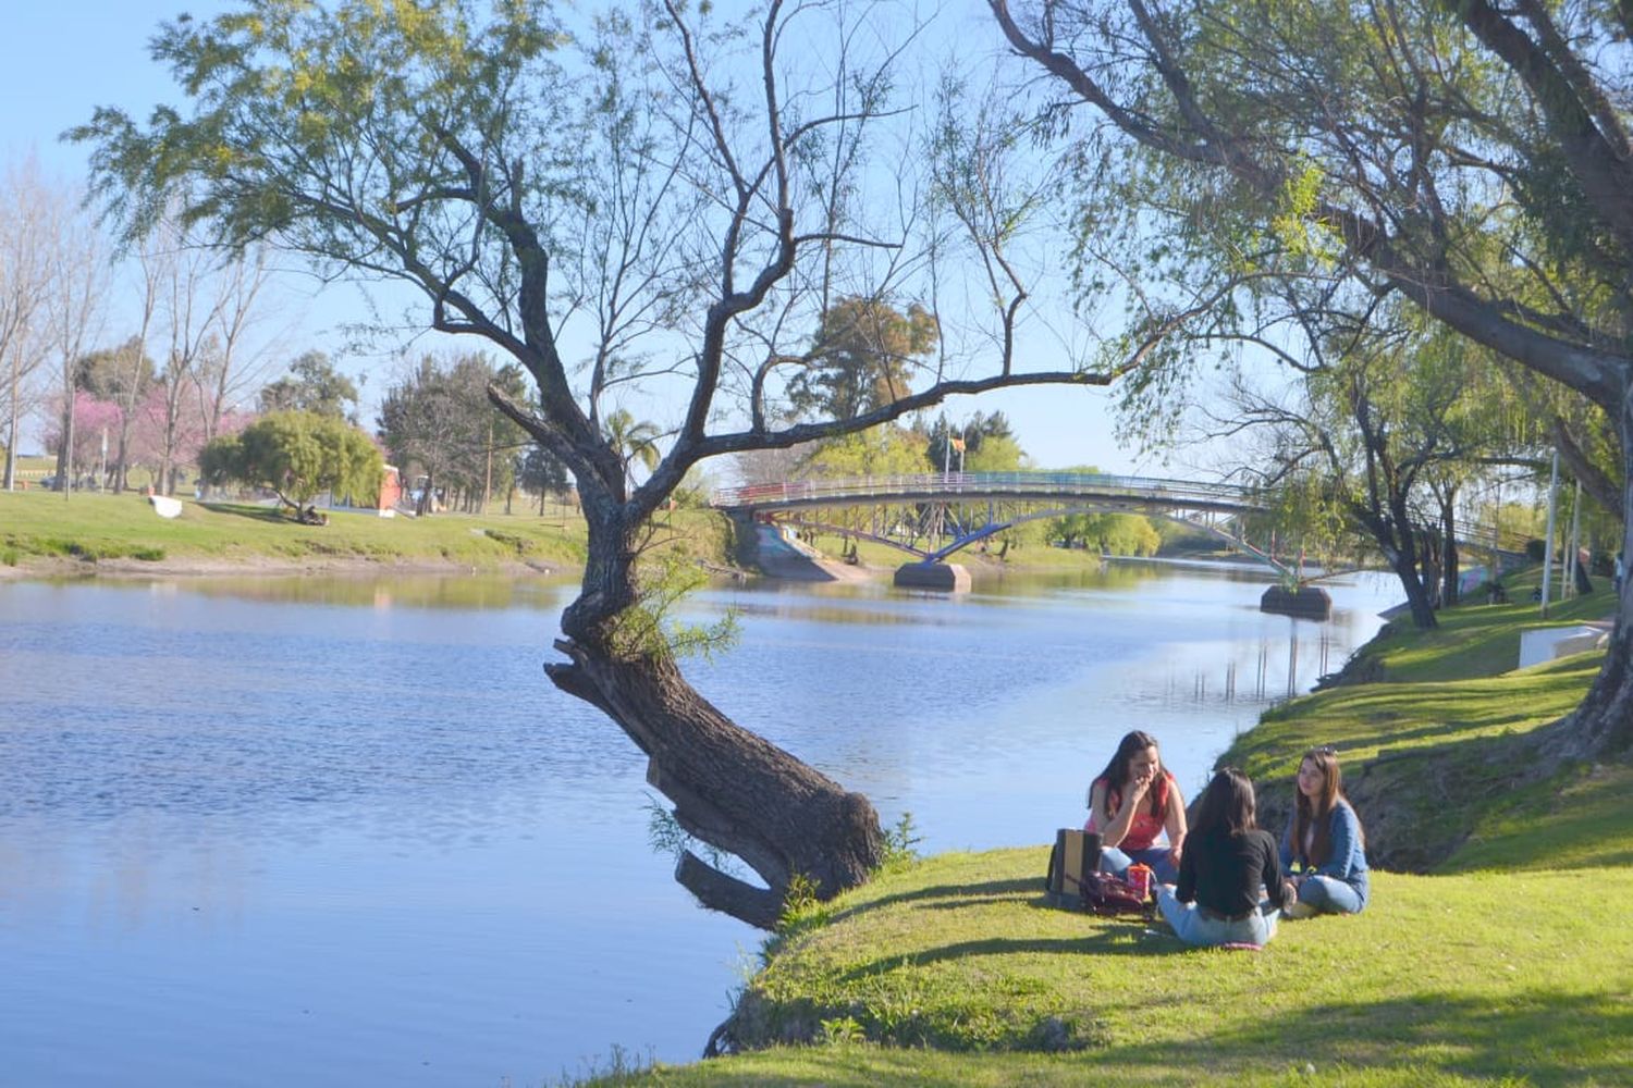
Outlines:
MULTIPOLYGON (((1045 843, 1141 728, 1187 796, 1329 623, 1235 566, 717 587, 694 683, 921 850, 1045 843)), ((0 1085, 541 1085, 697 1057, 759 935, 648 845, 635 747, 541 664, 572 587, 0 582, 0 1085)), ((1039 851, 1042 876, 1045 853, 1039 851)))

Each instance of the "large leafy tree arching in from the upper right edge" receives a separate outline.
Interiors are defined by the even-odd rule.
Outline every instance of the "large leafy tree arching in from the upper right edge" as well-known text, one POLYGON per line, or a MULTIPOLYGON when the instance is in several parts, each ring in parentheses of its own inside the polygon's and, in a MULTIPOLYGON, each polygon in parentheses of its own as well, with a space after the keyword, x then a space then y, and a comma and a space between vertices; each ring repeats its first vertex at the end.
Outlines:
MULTIPOLYGON (((1270 259, 1399 295, 1599 405, 1633 509, 1625 3, 988 3, 1109 122, 1075 148, 1120 179, 1094 210, 1179 223, 1156 264, 1270 259)), ((1633 594, 1564 734, 1566 754, 1633 744, 1633 594)))

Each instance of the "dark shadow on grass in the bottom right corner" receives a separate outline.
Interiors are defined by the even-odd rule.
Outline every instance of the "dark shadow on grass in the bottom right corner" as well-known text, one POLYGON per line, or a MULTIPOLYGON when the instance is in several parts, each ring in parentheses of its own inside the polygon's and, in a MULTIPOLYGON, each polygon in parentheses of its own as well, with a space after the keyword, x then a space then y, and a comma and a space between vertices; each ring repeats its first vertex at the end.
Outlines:
MULTIPOLYGON (((1272 1073, 1287 1062, 1424 1067, 1535 1085, 1626 1083, 1633 1002, 1615 993, 1528 990, 1501 1000, 1422 993, 1318 1005, 1243 1028, 1161 1044, 1112 1044, 1110 1065, 1272 1073)), ((1336 1083, 1336 1081, 1333 1081, 1336 1083)))

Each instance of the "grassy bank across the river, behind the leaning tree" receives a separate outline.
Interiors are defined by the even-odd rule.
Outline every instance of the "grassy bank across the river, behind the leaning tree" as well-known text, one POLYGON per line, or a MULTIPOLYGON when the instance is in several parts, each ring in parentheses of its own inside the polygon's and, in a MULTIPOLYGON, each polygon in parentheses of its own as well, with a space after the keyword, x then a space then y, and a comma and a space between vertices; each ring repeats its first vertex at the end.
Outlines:
MULTIPOLYGON (((495 507, 503 509, 500 504, 495 507)), ((730 525, 707 511, 665 515, 660 537, 723 563, 730 525)), ((558 504, 516 514, 376 517, 335 511, 323 527, 297 525, 265 506, 188 501, 162 519, 137 494, 0 493, 0 563, 34 573, 95 569, 253 571, 340 564, 438 564, 492 569, 578 568, 585 524, 558 504)))

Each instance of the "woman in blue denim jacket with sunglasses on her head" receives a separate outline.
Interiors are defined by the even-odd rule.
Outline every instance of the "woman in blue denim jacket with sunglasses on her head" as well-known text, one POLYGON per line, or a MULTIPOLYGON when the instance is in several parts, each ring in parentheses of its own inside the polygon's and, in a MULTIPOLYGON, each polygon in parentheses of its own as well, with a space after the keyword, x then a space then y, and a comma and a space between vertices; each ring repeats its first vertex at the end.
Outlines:
POLYGON ((1359 913, 1367 905, 1367 843, 1331 747, 1310 749, 1298 763, 1282 868, 1298 873, 1287 882, 1288 918, 1359 913))

